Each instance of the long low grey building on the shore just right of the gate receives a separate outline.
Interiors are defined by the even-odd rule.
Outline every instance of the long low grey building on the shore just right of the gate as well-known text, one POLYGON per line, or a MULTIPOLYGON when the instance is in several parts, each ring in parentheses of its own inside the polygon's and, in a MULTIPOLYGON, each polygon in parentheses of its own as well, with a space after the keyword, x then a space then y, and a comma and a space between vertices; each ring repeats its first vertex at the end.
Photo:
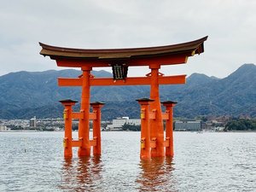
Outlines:
POLYGON ((174 123, 175 131, 201 131, 201 120, 180 119, 174 123))

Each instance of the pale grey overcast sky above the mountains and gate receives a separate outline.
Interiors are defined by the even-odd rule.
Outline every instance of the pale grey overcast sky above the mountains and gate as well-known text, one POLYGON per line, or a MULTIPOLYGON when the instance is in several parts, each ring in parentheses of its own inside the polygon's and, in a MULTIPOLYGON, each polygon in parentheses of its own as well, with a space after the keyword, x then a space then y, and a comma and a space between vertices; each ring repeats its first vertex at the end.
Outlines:
MULTIPOLYGON (((0 0, 0 5, 0 75, 63 69, 39 55, 38 42, 128 48, 209 36, 203 54, 160 72, 224 78, 244 63, 256 63, 255 0, 0 0)), ((145 73, 147 67, 129 68, 130 76, 145 73)))

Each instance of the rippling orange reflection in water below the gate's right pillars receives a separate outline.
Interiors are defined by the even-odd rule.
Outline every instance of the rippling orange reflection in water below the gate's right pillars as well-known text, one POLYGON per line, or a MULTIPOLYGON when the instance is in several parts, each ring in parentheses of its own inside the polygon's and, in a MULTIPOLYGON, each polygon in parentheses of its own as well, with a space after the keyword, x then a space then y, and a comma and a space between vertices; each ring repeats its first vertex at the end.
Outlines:
POLYGON ((140 191, 177 191, 177 183, 172 175, 172 158, 141 160, 141 172, 137 177, 140 191))

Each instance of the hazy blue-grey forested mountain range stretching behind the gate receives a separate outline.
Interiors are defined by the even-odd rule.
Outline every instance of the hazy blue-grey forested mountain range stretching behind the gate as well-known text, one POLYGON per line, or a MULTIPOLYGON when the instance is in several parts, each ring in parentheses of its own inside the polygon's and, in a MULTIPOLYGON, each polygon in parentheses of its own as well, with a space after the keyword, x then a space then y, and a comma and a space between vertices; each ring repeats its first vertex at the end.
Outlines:
MULTIPOLYGON (((93 71, 96 77, 112 77, 106 71, 93 71)), ((58 77, 78 77, 80 71, 9 73, 0 77, 0 119, 61 117, 61 99, 80 99, 81 88, 58 87, 58 77)), ((139 116, 135 101, 149 96, 149 86, 92 87, 91 102, 106 102, 103 119, 139 116)), ((175 116, 240 115, 256 117, 256 66, 244 64, 224 79, 193 73, 187 84, 161 85, 161 101, 177 101, 175 116)), ((79 110, 79 104, 75 110, 79 110)))

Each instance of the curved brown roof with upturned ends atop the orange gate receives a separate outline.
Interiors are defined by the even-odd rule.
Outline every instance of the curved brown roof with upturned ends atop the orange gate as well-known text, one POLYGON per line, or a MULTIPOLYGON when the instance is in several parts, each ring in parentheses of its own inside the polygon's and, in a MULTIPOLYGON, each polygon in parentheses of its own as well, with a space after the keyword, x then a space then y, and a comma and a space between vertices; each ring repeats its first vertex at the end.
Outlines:
POLYGON ((158 47, 129 48, 129 49, 73 49, 55 47, 39 43, 42 47, 41 55, 48 55, 53 60, 79 60, 79 61, 134 61, 165 56, 186 55, 191 56, 204 52, 204 41, 207 36, 183 44, 172 44, 158 47))

